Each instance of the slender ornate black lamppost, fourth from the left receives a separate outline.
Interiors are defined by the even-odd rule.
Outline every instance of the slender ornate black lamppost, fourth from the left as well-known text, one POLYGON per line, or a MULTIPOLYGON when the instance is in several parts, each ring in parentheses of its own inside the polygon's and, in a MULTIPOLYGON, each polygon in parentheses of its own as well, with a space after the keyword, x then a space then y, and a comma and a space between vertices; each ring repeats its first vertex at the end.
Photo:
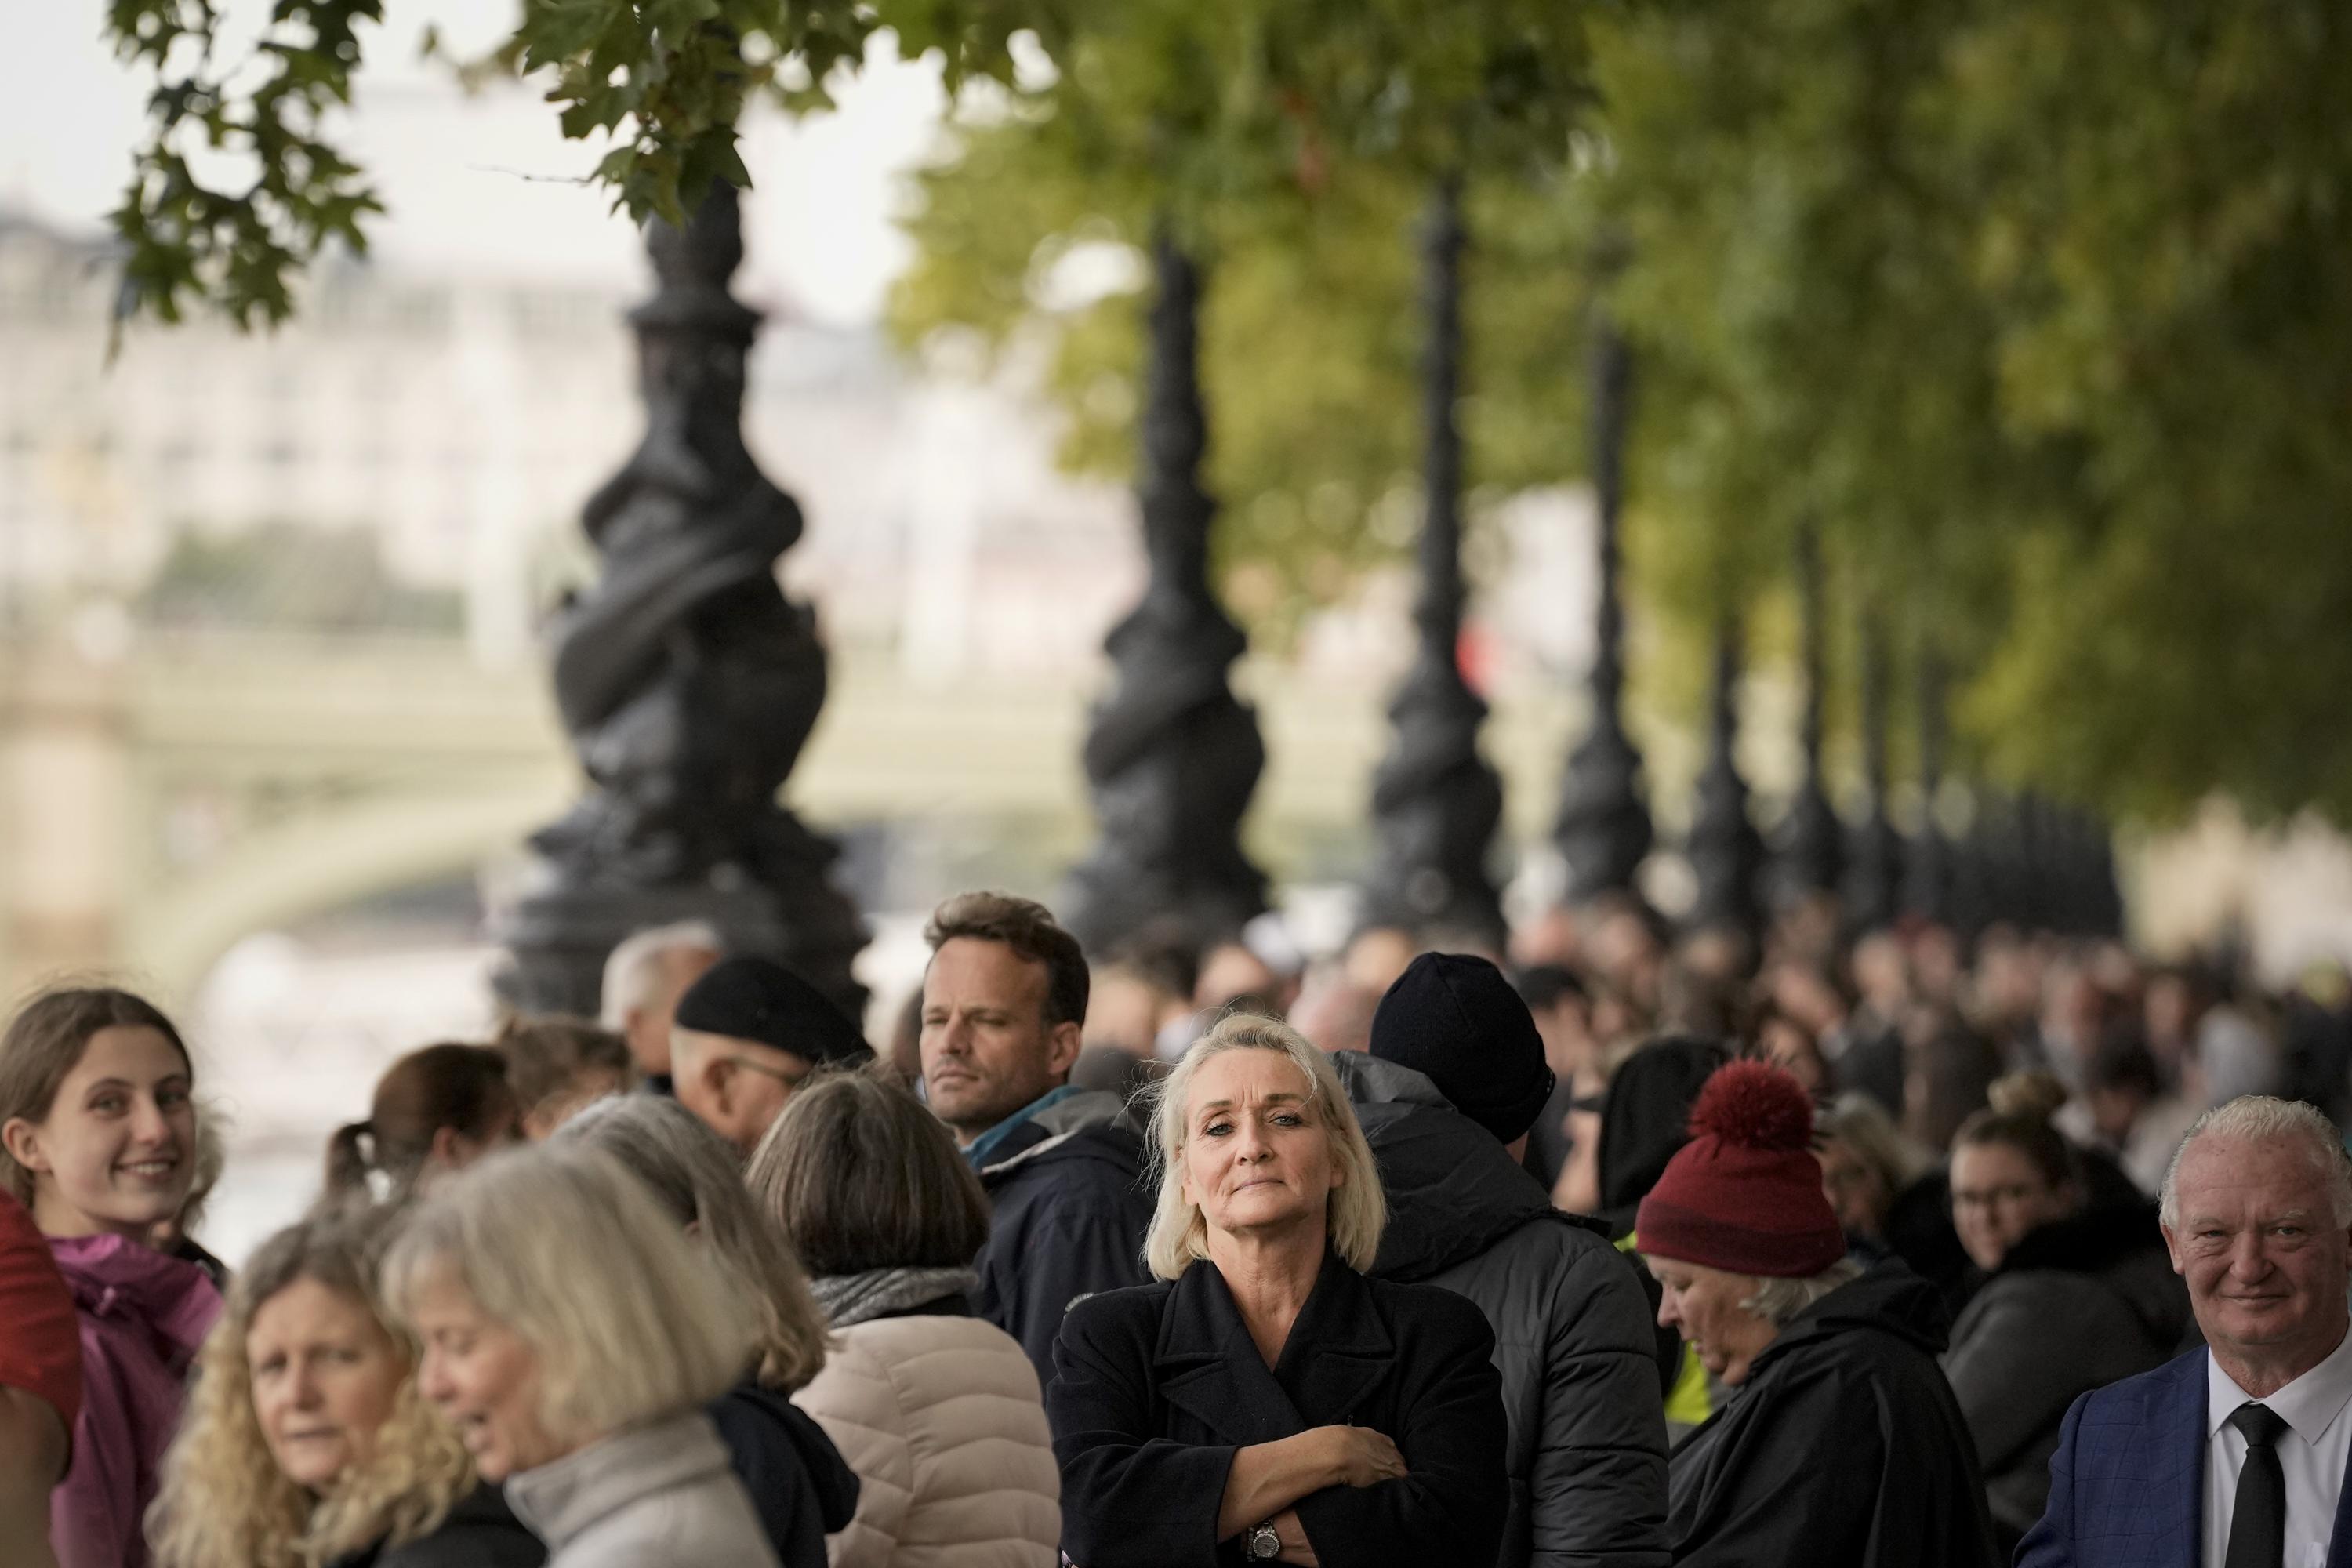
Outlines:
POLYGON ((1552 844, 1569 870, 1569 903, 1635 886, 1653 827, 1642 802, 1642 752, 1625 733, 1625 607, 1618 597, 1618 510, 1625 498, 1625 425, 1632 353, 1606 320, 1592 336, 1592 501, 1599 609, 1592 616, 1592 719, 1569 752, 1552 844))

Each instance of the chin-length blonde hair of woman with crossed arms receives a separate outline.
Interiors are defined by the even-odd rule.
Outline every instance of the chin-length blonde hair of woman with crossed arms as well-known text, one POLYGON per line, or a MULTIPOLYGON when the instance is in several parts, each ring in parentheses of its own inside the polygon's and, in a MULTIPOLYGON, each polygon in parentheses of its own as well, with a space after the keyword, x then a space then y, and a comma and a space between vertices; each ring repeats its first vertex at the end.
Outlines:
POLYGON ((1152 1105, 1152 1161, 1160 1168, 1160 1204, 1143 1237, 1143 1262, 1157 1279, 1176 1279, 1209 1255, 1209 1220, 1183 1194, 1185 1103, 1202 1063, 1225 1051, 1279 1051, 1308 1086, 1308 1110, 1317 1112, 1331 1135, 1331 1157, 1345 1180, 1331 1190, 1324 1227, 1331 1248, 1357 1272, 1371 1269, 1388 1227, 1388 1199, 1381 1194, 1381 1166, 1371 1159, 1364 1128, 1348 1105, 1331 1058, 1308 1044, 1305 1034, 1277 1018, 1228 1013, 1192 1041, 1160 1084, 1152 1105))

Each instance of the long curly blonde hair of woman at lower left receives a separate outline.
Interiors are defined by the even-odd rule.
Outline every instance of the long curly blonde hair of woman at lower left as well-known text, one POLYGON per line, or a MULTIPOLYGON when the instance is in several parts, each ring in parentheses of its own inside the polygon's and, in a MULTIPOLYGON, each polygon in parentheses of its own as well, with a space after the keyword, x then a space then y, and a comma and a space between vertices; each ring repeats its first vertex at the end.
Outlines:
POLYGON ((318 1568, 383 1540, 405 1544, 440 1528, 473 1490, 473 1462, 402 1378, 367 1465, 315 1495, 278 1469, 254 1413, 245 1335, 287 1286, 310 1279, 365 1302, 416 1366, 414 1342, 383 1312, 376 1262, 393 1225, 381 1208, 343 1208, 278 1232, 228 1291, 198 1356, 195 1387, 148 1509, 162 1568, 318 1568))

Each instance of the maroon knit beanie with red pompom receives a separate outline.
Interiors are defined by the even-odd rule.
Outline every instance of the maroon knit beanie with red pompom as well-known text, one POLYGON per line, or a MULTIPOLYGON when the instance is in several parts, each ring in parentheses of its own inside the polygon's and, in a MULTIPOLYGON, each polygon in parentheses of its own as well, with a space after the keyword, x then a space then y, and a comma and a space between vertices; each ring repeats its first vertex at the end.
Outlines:
POLYGON ((1642 1199, 1635 1237, 1653 1258, 1766 1279, 1804 1279, 1844 1258, 1804 1086, 1769 1063, 1717 1067, 1691 1105, 1691 1143, 1642 1199))

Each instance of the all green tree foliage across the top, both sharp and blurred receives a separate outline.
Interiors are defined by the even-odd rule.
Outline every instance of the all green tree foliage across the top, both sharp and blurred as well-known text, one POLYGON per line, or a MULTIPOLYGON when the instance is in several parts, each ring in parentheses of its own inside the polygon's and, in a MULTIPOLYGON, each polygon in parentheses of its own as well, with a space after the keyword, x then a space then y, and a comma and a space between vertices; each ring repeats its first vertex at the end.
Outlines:
MULTIPOLYGON (((125 310, 278 320, 360 244, 374 197, 322 127, 374 19, 278 0, 228 71, 214 0, 111 0, 162 80, 125 310)), ((753 96, 821 101, 884 26, 1007 82, 922 176, 894 327, 1040 364, 1065 458, 1127 475, 1141 247, 1178 223, 1261 623, 1409 538, 1409 226, 1465 169, 1472 482, 1583 468, 1604 301, 1639 364, 1635 590, 1675 646, 1780 595, 1811 520, 1839 599, 1962 675, 1969 764, 2352 820, 2340 0, 524 0, 501 63, 621 207, 677 214, 741 176, 753 96), (1018 28, 1049 80, 1009 85, 1018 28)))

